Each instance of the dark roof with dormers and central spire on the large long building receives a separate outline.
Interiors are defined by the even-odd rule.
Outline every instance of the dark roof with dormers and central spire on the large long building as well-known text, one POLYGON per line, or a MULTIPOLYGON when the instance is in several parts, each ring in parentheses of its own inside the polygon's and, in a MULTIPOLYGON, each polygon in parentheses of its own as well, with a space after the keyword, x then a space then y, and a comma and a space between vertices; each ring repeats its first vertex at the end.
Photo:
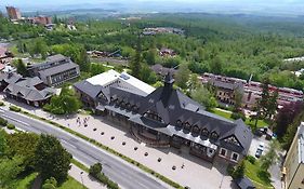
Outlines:
MULTIPOLYGON (((173 78, 168 75, 164 79, 164 86, 158 87, 147 96, 140 96, 124 89, 116 87, 110 87, 109 95, 114 99, 123 99, 124 103, 136 103, 140 107, 138 114, 134 118, 130 118, 129 114, 128 118, 130 118, 130 121, 144 124, 147 127, 154 127, 156 131, 162 133, 175 134, 188 138, 189 140, 202 143, 196 134, 190 132, 183 134, 177 130, 172 130, 172 125, 176 125, 177 122, 197 125, 200 130, 207 129, 210 133, 215 132, 219 135, 219 138, 210 139, 212 144, 247 154, 253 135, 242 120, 234 122, 206 111, 204 107, 200 106, 179 90, 174 90, 173 82, 173 78), (156 123, 143 119, 144 113, 147 111, 156 112, 161 118, 162 121, 158 122, 159 126, 155 126, 156 123), (226 138, 230 137, 235 137, 239 145, 225 141, 226 138)), ((114 108, 115 106, 111 107, 111 110, 114 110, 114 108)), ((123 114, 123 112, 121 113, 123 114)))

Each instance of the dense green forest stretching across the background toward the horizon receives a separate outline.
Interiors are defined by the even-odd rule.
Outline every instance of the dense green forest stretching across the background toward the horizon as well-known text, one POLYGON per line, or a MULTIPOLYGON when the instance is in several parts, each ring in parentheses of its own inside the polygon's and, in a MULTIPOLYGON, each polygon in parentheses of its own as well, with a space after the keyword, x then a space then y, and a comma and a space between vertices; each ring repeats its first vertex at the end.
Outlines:
MULTIPOLYGON (((56 18, 56 23, 61 26, 65 21, 56 18)), ((45 54, 45 51, 47 54, 63 53, 79 63, 85 58, 77 53, 83 54, 84 50, 120 50, 123 57, 132 59, 140 37, 140 60, 145 65, 160 63, 166 67, 174 67, 184 63, 195 73, 208 71, 241 79, 249 79, 253 75, 253 80, 269 78, 270 84, 277 86, 298 90, 304 86, 304 77, 298 78, 291 72, 303 68, 304 63, 283 60, 304 55, 304 25, 300 18, 154 14, 142 15, 141 19, 79 21, 76 22, 76 28, 68 30, 57 27, 45 31, 39 26, 13 25, 5 18, 0 19, 1 38, 14 40, 19 46, 30 46, 39 38, 47 46, 41 54, 45 54), (184 29, 185 35, 143 36, 141 33, 145 27, 175 27, 184 29), (172 49, 177 55, 158 56, 157 50, 161 48, 172 49)))

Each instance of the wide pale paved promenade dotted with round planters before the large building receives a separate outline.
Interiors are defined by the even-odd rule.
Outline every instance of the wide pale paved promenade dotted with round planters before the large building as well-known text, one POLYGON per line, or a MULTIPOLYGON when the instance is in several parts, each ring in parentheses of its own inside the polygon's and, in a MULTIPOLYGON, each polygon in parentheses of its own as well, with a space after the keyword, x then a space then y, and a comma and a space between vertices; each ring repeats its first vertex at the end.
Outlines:
MULTIPOLYGON (((1 96, 0 96, 1 97, 1 96)), ((52 120, 75 132, 89 136, 96 141, 148 166, 161 175, 191 189, 230 189, 232 177, 226 175, 226 167, 222 164, 211 164, 202 159, 190 156, 187 149, 151 148, 138 144, 129 131, 119 123, 113 123, 103 117, 77 114, 74 117, 54 117, 41 109, 9 99, 10 103, 22 107, 32 114, 52 120), (81 124, 77 121, 80 119, 81 124), (88 120, 88 126, 83 121, 88 120), (145 156, 146 154, 146 156, 145 156), (159 162, 158 159, 161 159, 159 162), (183 168, 182 165, 184 164, 183 168), (175 166, 175 170, 173 168, 175 166)))

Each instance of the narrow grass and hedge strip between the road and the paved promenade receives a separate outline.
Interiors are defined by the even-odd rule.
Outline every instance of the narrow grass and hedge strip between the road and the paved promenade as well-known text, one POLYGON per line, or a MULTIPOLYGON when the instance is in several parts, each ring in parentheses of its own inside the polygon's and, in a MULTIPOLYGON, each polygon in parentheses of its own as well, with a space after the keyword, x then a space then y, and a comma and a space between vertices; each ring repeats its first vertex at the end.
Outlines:
MULTIPOLYGON (((129 157, 125 157, 124 154, 122 154, 122 153, 120 153, 120 152, 118 152, 118 151, 116 151, 116 150, 114 150, 114 149, 111 149, 111 148, 109 148, 109 147, 107 147, 107 146, 104 146, 103 144, 97 143, 96 140, 94 140, 94 139, 92 139, 92 138, 89 138, 88 136, 84 136, 84 135, 82 135, 82 134, 80 134, 80 133, 77 133, 77 132, 75 132, 75 131, 72 131, 72 130, 70 130, 70 129, 68 129, 68 127, 65 127, 65 126, 63 126, 63 125, 61 125, 61 124, 58 124, 58 123, 56 123, 56 122, 54 122, 54 121, 47 120, 45 118, 40 118, 40 117, 38 117, 38 116, 36 116, 36 114, 31 114, 31 113, 29 113, 28 111, 22 110, 21 113, 24 113, 24 114, 26 114, 26 116, 28 116, 28 117, 31 117, 31 118, 34 118, 34 119, 37 119, 37 120, 41 120, 41 121, 43 121, 43 122, 47 122, 47 123, 52 124, 52 125, 54 125, 54 126, 57 126, 57 127, 60 127, 60 129, 62 129, 62 130, 64 130, 64 131, 70 133, 70 134, 74 134, 74 135, 76 135, 76 136, 82 138, 82 139, 84 139, 84 140, 87 140, 87 141, 89 141, 89 143, 91 143, 91 144, 93 144, 93 145, 95 145, 95 146, 97 146, 97 147, 100 147, 100 148, 102 148, 102 149, 104 149, 104 150, 106 150, 106 151, 108 151, 108 152, 110 152, 110 153, 113 153, 113 154, 115 154, 115 156, 121 158, 122 160, 124 160, 124 161, 127 161, 127 162, 129 162, 129 163, 131 163, 131 164, 137 166, 137 167, 141 168, 142 171, 154 175, 155 177, 159 178, 160 180, 164 181, 166 184, 170 185, 171 187, 179 188, 179 189, 182 189, 182 188, 183 188, 183 187, 182 187, 181 185, 179 185, 177 183, 175 183, 175 181, 173 181, 173 180, 167 178, 166 176, 163 176, 163 175, 161 175, 161 174, 159 174, 159 173, 153 171, 151 168, 149 168, 149 167, 147 167, 147 166, 141 164, 140 162, 136 162, 135 160, 132 160, 132 159, 129 158, 129 157)), ((80 162, 79 162, 79 163, 80 163, 80 162)))

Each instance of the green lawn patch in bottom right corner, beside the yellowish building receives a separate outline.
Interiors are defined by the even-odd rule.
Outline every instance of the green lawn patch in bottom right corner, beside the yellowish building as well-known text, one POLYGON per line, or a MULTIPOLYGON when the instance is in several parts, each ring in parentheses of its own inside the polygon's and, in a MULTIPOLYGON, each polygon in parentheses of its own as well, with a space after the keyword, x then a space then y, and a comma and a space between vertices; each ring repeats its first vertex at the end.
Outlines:
POLYGON ((274 188, 272 186, 272 184, 265 183, 264 180, 262 180, 257 176, 257 172, 260 170, 259 161, 255 161, 254 164, 251 164, 248 160, 243 160, 243 161, 244 161, 244 167, 246 167, 244 175, 252 180, 253 185, 257 189, 272 189, 272 188, 274 188))

